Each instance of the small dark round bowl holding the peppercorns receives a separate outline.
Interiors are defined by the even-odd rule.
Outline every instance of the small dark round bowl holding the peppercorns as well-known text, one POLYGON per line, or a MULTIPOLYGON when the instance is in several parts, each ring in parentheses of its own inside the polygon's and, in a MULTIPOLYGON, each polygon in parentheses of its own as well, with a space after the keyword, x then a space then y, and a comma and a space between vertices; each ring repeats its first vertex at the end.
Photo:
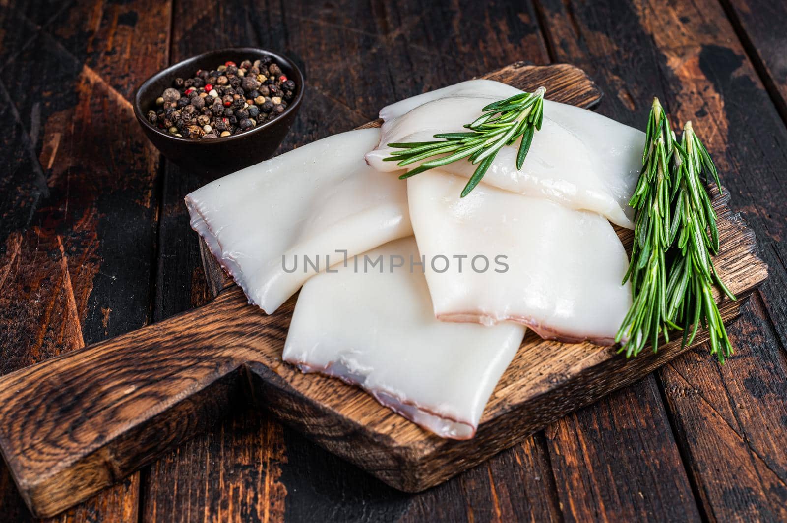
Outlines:
POLYGON ((230 47, 198 54, 151 76, 134 95, 134 115, 147 137, 164 156, 184 170, 212 179, 270 158, 290 130, 301 108, 303 92, 303 73, 289 58, 257 47, 230 47), (172 136, 147 121, 147 112, 155 110, 157 97, 164 89, 172 87, 176 77, 191 78, 198 69, 216 68, 228 60, 240 64, 242 60, 254 61, 261 57, 271 57, 279 64, 283 74, 296 84, 293 100, 278 118, 244 133, 204 140, 172 136))

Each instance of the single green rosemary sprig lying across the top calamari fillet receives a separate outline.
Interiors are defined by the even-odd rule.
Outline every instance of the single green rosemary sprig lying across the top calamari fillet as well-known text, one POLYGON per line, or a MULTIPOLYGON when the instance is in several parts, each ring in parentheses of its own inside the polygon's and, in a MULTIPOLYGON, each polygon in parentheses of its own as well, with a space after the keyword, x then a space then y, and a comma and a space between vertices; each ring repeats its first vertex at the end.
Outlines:
POLYGON ((519 137, 522 137, 522 141, 516 155, 516 168, 522 168, 527 152, 530 151, 533 135, 536 130, 541 129, 545 92, 544 87, 539 87, 534 93, 516 94, 487 105, 481 110, 485 114, 475 119, 475 122, 464 125, 469 129, 467 132, 435 134, 434 137, 440 138, 439 141, 388 144, 403 150, 391 152, 384 161, 398 162, 397 166, 403 167, 433 156, 444 155, 427 160, 402 174, 399 179, 403 180, 425 170, 467 158, 473 165, 478 164, 478 167, 462 190, 461 196, 464 198, 484 177, 497 152, 504 145, 513 144, 519 137))

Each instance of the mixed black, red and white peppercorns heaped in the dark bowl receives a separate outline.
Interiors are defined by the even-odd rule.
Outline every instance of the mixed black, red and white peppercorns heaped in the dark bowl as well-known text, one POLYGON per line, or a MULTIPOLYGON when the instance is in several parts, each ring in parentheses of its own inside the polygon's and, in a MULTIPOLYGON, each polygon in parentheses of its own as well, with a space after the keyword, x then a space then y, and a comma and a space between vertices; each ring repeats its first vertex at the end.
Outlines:
POLYGON ((147 119, 162 132, 185 138, 216 138, 252 130, 284 112, 295 82, 270 57, 228 61, 176 78, 156 100, 147 119))

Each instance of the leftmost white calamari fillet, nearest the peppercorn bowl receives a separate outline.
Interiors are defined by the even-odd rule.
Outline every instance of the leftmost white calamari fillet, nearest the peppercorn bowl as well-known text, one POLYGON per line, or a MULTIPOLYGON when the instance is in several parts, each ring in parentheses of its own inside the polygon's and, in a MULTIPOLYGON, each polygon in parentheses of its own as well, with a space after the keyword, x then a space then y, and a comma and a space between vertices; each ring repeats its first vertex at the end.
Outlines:
POLYGON ((309 277, 341 262, 337 250, 353 256, 412 235, 405 184, 364 163, 379 137, 379 129, 335 134, 186 197, 192 229, 250 303, 273 313, 309 277))

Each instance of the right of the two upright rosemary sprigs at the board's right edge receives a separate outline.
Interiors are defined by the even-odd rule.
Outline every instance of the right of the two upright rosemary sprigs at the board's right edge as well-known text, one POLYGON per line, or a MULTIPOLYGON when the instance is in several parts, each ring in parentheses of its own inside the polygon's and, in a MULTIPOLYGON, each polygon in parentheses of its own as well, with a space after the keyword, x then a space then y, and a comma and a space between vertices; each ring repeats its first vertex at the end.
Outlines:
POLYGON ((677 182, 674 190, 677 212, 672 228, 679 231, 676 244, 679 252, 675 254, 667 287, 670 297, 667 316, 675 322, 682 319, 684 345, 694 341, 700 322, 708 327, 711 354, 723 364, 732 356, 733 347, 713 300, 713 285, 719 285, 730 299, 736 298, 719 279, 711 262, 711 253, 719 253, 719 231, 711 198, 703 185, 712 177, 721 192, 719 175, 691 122, 685 124, 681 143, 676 148, 673 173, 677 182), (692 324, 694 328, 689 335, 692 324))

